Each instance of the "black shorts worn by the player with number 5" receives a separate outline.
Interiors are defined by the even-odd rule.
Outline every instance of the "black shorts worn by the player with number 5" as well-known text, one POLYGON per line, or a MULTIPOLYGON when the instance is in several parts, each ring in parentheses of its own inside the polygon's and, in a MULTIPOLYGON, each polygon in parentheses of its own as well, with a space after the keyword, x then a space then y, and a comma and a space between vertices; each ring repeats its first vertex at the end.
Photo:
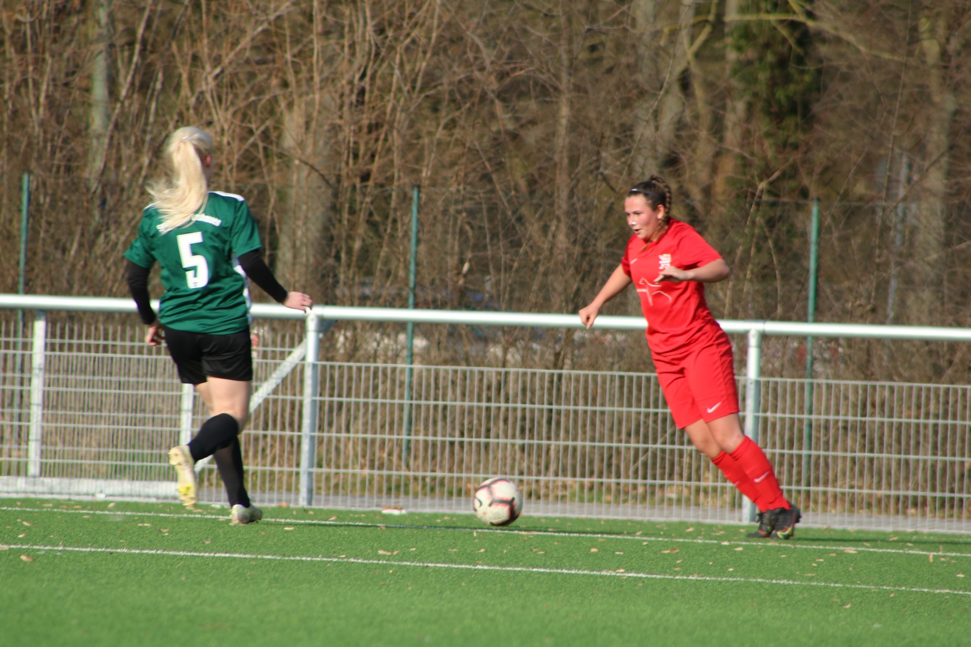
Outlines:
POLYGON ((165 330, 165 345, 185 384, 201 384, 206 376, 252 381, 252 341, 247 328, 232 335, 205 335, 165 330))

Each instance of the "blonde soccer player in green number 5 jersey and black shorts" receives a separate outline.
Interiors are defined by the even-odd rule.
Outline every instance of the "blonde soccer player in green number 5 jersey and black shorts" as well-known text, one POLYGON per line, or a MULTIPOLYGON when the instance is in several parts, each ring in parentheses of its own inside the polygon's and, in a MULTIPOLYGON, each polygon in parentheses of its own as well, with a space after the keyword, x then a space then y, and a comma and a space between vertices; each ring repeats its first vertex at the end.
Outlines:
POLYGON ((150 188, 154 202, 142 215, 138 237, 128 251, 128 286, 142 321, 145 340, 163 340, 180 379, 195 385, 211 417, 187 445, 169 450, 179 478, 179 498, 196 501, 195 464, 213 456, 229 498, 230 523, 259 521, 243 485, 239 434, 250 414, 252 355, 247 278, 286 307, 314 304, 287 292, 259 255, 259 234, 242 196, 210 191, 213 139, 195 127, 180 128, 165 146, 168 177, 150 188), (161 266, 158 318, 151 309, 149 273, 161 266), (163 337, 164 330, 164 337, 163 337))

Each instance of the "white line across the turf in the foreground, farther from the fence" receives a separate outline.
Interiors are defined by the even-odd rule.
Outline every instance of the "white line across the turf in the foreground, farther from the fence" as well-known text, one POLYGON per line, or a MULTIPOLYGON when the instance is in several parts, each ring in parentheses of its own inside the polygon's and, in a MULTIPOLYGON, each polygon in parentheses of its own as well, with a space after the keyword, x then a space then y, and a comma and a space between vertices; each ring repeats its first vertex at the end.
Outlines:
MULTIPOLYGON (((710 575, 662 575, 617 570, 584 570, 581 568, 544 568, 542 566, 487 566, 483 564, 444 564, 441 562, 395 562, 392 560, 365 560, 359 558, 312 557, 303 555, 257 555, 252 553, 210 553, 191 550, 163 550, 155 548, 100 548, 97 546, 38 546, 32 544, 6 544, 5 549, 38 551, 68 551, 73 553, 115 553, 124 555, 161 555, 165 557, 209 557, 238 560, 269 560, 274 562, 329 562, 335 564, 370 564, 378 566, 419 566, 421 568, 455 568, 459 570, 494 570, 507 572, 547 573, 554 575, 599 575, 601 577, 636 577, 653 580, 688 580, 692 582, 745 582, 750 584, 784 584, 788 586, 816 586, 833 589, 859 589, 863 591, 904 591, 909 593, 954 594, 971 596, 971 591, 954 589, 924 589, 903 586, 867 584, 840 584, 838 582, 799 582, 796 580, 765 579, 761 577, 712 577, 710 575)), ((4 548, 0 548, 3 550, 4 548)))

